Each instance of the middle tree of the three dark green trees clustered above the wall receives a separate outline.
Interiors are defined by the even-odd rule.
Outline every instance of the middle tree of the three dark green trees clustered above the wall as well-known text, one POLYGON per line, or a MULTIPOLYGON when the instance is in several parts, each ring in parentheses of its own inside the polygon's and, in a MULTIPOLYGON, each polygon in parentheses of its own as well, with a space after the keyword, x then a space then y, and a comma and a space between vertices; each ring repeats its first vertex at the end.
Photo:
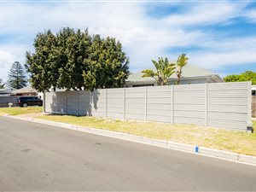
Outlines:
POLYGON ((59 87, 82 90, 82 87, 85 87, 83 73, 89 68, 86 63, 90 57, 91 46, 88 30, 74 32, 73 29, 64 28, 57 34, 57 41, 58 57, 61 58, 59 87))

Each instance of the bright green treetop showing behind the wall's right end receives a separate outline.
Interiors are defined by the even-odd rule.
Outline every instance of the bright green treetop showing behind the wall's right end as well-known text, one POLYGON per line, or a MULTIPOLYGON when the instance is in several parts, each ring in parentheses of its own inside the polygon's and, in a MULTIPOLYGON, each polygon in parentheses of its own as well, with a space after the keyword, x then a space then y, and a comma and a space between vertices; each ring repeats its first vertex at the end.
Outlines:
POLYGON ((240 82, 240 81, 252 81, 252 84, 256 84, 256 73, 253 71, 245 71, 241 74, 230 74, 224 77, 225 82, 240 82))

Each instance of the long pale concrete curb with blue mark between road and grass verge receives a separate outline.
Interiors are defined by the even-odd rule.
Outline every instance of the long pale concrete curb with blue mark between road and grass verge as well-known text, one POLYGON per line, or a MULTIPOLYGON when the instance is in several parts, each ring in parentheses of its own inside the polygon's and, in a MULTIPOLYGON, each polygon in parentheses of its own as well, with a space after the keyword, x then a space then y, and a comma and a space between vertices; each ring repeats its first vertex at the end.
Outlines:
POLYGON ((214 148, 198 147, 198 146, 189 145, 189 144, 175 143, 175 142, 170 142, 170 141, 166 141, 166 140, 135 136, 135 135, 131 135, 128 133, 123 133, 123 132, 101 130, 101 129, 84 127, 84 126, 79 126, 79 125, 59 123, 59 122, 44 120, 44 119, 21 118, 21 117, 15 117, 15 116, 10 116, 10 115, 3 115, 3 116, 9 117, 12 119, 20 119, 20 120, 36 122, 36 123, 40 123, 40 124, 44 124, 44 125, 53 125, 53 126, 57 126, 57 127, 61 127, 61 128, 75 130, 75 131, 88 132, 88 133, 101 135, 101 136, 114 137, 114 138, 123 139, 123 140, 136 142, 136 143, 154 145, 154 146, 161 147, 161 148, 172 148, 172 149, 180 150, 183 152, 207 155, 207 156, 222 159, 222 160, 230 160, 233 162, 239 162, 239 163, 243 163, 243 164, 247 164, 247 165, 251 165, 251 166, 256 166, 256 157, 250 156, 250 155, 245 155, 245 154, 236 154, 233 152, 218 150, 218 149, 214 149, 214 148))

